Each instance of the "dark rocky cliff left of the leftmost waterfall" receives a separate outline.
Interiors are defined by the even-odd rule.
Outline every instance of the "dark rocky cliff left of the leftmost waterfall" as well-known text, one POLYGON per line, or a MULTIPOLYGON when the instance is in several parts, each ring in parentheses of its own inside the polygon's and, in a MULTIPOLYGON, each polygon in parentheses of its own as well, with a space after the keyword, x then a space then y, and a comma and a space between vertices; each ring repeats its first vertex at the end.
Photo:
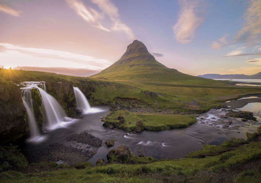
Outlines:
POLYGON ((16 139, 28 130, 20 88, 0 79, 0 143, 16 139))

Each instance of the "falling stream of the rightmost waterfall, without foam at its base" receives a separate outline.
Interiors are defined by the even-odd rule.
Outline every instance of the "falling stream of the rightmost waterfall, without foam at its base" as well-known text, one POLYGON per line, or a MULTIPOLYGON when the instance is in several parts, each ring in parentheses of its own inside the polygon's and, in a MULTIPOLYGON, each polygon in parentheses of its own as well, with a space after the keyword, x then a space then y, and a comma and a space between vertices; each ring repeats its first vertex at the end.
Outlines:
POLYGON ((87 101, 87 98, 84 96, 84 94, 79 90, 78 87, 74 88, 74 95, 76 99, 77 108, 83 109, 83 113, 88 113, 90 111, 91 106, 89 102, 87 101))

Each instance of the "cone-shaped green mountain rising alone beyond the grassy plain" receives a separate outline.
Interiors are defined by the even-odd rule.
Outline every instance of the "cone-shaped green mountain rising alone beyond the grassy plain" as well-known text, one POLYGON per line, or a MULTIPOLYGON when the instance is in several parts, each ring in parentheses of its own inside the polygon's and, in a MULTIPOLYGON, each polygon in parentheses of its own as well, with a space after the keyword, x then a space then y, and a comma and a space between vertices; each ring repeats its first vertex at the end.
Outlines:
POLYGON ((164 66, 138 40, 128 45, 126 52, 117 62, 90 77, 199 85, 215 83, 213 80, 191 76, 164 66))

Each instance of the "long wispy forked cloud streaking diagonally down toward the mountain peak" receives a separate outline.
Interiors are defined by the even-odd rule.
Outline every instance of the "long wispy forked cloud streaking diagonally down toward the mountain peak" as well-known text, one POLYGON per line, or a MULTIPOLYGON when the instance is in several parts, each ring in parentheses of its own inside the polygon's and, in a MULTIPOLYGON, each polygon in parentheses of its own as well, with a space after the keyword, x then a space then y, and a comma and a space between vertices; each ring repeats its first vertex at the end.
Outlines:
POLYGON ((109 0, 92 0, 92 3, 98 5, 101 12, 97 12, 91 7, 86 7, 81 0, 66 0, 70 7, 75 10, 77 15, 82 17, 86 22, 91 23, 93 27, 100 30, 111 32, 111 31, 123 31, 131 39, 135 38, 132 30, 122 23, 119 19, 118 9, 109 0), (104 18, 104 14, 107 14, 112 21, 111 28, 104 27, 99 19, 104 18))

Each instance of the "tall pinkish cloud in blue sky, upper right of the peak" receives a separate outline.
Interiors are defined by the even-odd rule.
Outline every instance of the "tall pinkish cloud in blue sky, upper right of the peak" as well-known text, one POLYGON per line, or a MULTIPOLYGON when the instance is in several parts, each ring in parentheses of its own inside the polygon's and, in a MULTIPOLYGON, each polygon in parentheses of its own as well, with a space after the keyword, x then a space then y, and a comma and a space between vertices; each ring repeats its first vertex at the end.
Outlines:
POLYGON ((189 43, 194 38, 198 26, 203 23, 205 17, 199 12, 200 1, 179 0, 181 10, 179 11, 178 22, 172 27, 174 37, 178 42, 189 43))

